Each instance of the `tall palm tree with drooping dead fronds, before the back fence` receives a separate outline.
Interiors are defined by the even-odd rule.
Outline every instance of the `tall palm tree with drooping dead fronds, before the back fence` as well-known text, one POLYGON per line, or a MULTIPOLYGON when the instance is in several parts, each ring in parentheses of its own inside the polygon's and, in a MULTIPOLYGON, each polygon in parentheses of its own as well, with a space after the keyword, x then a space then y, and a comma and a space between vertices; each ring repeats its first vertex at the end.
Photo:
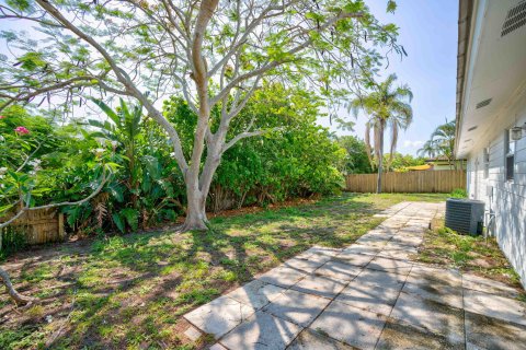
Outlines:
POLYGON ((386 129, 391 131, 390 155, 387 160, 389 168, 392 156, 397 149, 398 132, 405 130, 413 120, 413 109, 410 102, 413 93, 408 85, 393 88, 396 74, 390 74, 381 83, 374 84, 369 94, 351 101, 351 109, 357 116, 359 110, 368 114, 366 124, 365 143, 369 162, 378 168, 378 182, 376 191, 381 192, 381 173, 384 172, 384 133, 386 129), (370 131, 374 131, 374 147, 370 144, 370 131))

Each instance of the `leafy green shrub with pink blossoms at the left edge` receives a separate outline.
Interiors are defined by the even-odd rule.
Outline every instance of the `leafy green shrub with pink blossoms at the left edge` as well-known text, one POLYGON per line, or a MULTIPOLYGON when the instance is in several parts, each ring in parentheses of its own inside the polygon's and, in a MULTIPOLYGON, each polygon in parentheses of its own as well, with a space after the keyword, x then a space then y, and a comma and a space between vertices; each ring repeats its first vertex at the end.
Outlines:
MULTIPOLYGON (((64 196, 70 191, 68 182, 62 182, 60 174, 67 167, 82 164, 82 170, 93 179, 101 178, 102 164, 93 152, 89 158, 79 156, 78 137, 71 128, 62 128, 52 119, 31 116, 24 108, 12 106, 0 118, 0 217, 13 211, 22 214, 35 207, 49 202, 75 201, 87 196, 78 191, 80 198, 64 196), (96 173, 96 175, 95 175, 96 173), (69 187, 62 187, 66 186, 69 187)), ((81 142, 80 142, 81 143, 81 142)), ((93 143, 84 143, 89 149, 93 143)), ((76 186, 87 185, 77 178, 76 186)), ((95 185, 90 184, 92 189, 95 185)), ((89 190, 88 190, 89 194, 89 190)))

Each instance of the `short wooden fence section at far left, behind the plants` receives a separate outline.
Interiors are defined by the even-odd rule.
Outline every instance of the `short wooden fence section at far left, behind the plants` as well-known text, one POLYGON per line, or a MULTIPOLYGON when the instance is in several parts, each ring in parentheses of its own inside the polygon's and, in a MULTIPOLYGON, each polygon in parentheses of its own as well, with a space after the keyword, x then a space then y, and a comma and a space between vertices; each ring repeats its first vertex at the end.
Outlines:
MULTIPOLYGON (((9 218, 12 215, 0 218, 0 222, 4 222, 9 218)), ((2 248, 2 237, 9 230, 23 234, 27 244, 60 242, 66 238, 64 214, 59 213, 57 209, 32 210, 23 213, 9 226, 0 230, 0 249, 2 248)))

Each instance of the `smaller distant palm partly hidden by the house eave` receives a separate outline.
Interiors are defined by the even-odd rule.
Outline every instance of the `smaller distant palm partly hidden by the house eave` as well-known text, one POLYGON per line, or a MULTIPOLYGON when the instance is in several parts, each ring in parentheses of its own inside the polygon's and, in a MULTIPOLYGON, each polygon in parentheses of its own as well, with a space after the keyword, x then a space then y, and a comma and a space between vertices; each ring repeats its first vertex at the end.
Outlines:
POLYGON ((446 124, 439 125, 435 131, 431 135, 430 140, 427 140, 424 145, 419 150, 419 154, 428 155, 430 158, 444 156, 447 159, 449 167, 457 168, 457 163, 455 162, 455 129, 456 121, 447 121, 446 124))

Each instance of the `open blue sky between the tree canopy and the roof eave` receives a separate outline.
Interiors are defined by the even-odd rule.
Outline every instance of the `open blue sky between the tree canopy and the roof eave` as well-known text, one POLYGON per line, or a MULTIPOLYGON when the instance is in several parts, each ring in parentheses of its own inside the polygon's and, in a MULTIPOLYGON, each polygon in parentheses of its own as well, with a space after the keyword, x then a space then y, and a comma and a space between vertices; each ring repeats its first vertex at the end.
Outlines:
MULTIPOLYGON (((407 83, 413 92, 413 122, 400 132, 397 151, 414 155, 435 127, 446 118, 455 118, 458 0, 397 0, 395 14, 386 13, 385 0, 365 2, 380 22, 395 23, 400 28, 398 42, 408 57, 400 60, 392 56, 382 77, 396 73, 398 82, 407 83)), ((340 116, 355 120, 345 110, 340 116)), ((359 116, 354 132, 331 126, 329 118, 319 122, 338 135, 357 135, 363 139, 366 120, 359 116)), ((387 139, 385 144, 388 152, 387 139)))

